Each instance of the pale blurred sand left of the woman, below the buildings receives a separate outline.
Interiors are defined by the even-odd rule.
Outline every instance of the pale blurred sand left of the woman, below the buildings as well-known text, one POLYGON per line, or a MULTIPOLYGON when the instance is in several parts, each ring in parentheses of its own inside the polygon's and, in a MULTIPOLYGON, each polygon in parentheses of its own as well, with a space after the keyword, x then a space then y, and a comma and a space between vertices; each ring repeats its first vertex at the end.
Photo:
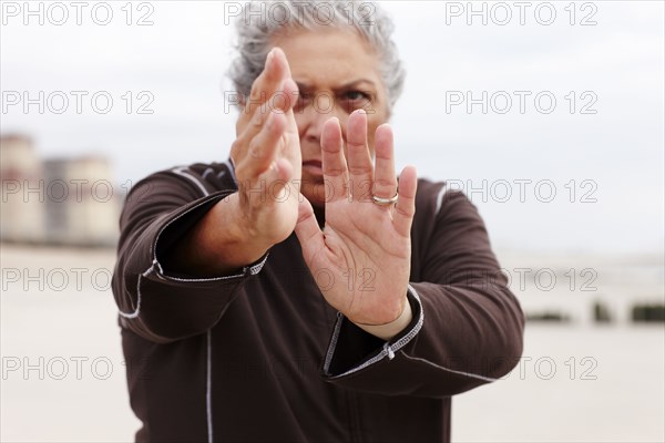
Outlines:
POLYGON ((132 441, 113 251, 3 246, 1 257, 2 442, 132 441))

